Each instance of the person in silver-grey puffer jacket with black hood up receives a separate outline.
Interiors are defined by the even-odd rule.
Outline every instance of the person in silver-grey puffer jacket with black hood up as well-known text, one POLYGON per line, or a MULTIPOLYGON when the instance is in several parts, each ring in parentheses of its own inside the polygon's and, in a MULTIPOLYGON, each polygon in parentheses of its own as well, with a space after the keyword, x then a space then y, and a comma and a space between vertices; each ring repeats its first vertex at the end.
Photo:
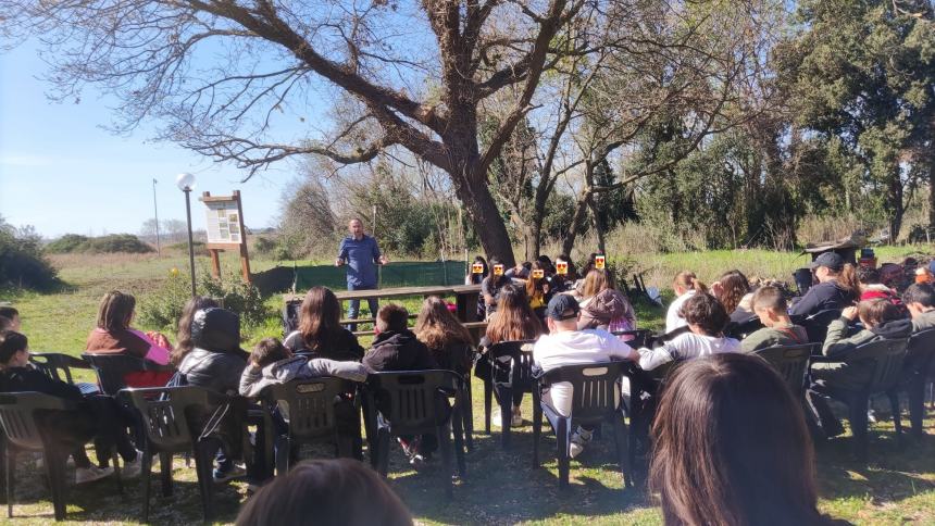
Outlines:
MULTIPOLYGON (((217 308, 198 311, 191 321, 194 349, 178 364, 180 384, 203 387, 221 394, 235 397, 240 387, 240 375, 247 366, 247 352, 240 349, 240 318, 237 314, 217 308)), ((212 415, 223 413, 216 429, 219 440, 217 467, 214 481, 223 483, 242 477, 246 471, 234 463, 241 455, 244 426, 240 415, 245 412, 242 399, 230 400, 211 408, 207 414, 195 415, 203 426, 214 419, 212 415)), ((219 414, 221 416, 221 414, 219 414)))

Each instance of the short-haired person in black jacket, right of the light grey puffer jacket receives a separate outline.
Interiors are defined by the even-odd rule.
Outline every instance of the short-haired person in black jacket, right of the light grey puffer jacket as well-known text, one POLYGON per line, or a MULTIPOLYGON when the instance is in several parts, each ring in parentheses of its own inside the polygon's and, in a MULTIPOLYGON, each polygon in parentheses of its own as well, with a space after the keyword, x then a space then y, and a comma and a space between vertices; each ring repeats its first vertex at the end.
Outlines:
MULTIPOLYGON (((407 327, 407 320, 409 312, 401 305, 390 303, 379 309, 374 326, 376 338, 370 352, 363 356, 363 366, 369 372, 426 371, 438 367, 428 347, 419 341, 415 334, 407 327)), ((379 400, 377 409, 385 410, 379 400)), ((413 465, 422 462, 438 447, 435 435, 423 435, 421 439, 400 437, 399 443, 413 465)))

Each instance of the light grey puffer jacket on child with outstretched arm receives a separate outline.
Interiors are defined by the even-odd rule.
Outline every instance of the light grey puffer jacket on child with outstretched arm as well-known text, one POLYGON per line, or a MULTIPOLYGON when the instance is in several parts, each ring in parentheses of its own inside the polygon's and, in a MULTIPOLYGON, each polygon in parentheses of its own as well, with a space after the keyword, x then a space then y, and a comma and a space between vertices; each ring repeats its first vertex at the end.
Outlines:
POLYGON ((294 379, 321 378, 335 376, 351 381, 366 379, 366 368, 360 362, 337 362, 324 358, 308 360, 292 356, 271 363, 265 367, 247 367, 240 376, 240 396, 253 398, 269 386, 286 384, 294 379))

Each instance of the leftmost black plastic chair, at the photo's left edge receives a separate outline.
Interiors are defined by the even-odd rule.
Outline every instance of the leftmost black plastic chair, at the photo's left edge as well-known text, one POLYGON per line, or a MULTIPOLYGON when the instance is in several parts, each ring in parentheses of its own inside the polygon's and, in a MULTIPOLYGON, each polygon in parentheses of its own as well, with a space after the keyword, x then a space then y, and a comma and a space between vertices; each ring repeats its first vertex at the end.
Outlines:
MULTIPOLYGON (((0 426, 7 437, 7 516, 13 518, 13 487, 15 484, 17 451, 41 451, 45 458, 46 475, 52 491, 52 506, 55 521, 65 518, 65 463, 68 454, 84 446, 74 440, 65 440, 51 436, 43 430, 37 416, 45 413, 48 418, 55 415, 51 412, 64 413, 77 411, 74 402, 41 392, 10 392, 0 394, 0 426)), ((123 492, 120 478, 120 467, 116 454, 113 459, 114 476, 119 491, 123 492)))

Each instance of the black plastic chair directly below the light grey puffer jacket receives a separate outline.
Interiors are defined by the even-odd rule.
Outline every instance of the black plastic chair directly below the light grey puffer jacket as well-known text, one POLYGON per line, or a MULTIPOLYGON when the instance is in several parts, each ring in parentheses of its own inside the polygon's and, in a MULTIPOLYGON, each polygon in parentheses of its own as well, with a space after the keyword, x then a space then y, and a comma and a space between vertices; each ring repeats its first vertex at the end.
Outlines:
MULTIPOLYGON (((356 388, 350 381, 333 377, 292 380, 265 389, 266 400, 278 404, 283 416, 288 416, 286 434, 275 440, 276 475, 289 472, 290 459, 303 443, 332 443, 336 448, 337 456, 361 456, 359 451, 354 451, 356 446, 360 446, 360 431, 357 440, 341 436, 335 413, 337 400, 345 393, 354 391, 356 388)), ((353 405, 353 400, 346 402, 353 405)), ((360 413, 357 413, 357 418, 359 422, 360 413)))

